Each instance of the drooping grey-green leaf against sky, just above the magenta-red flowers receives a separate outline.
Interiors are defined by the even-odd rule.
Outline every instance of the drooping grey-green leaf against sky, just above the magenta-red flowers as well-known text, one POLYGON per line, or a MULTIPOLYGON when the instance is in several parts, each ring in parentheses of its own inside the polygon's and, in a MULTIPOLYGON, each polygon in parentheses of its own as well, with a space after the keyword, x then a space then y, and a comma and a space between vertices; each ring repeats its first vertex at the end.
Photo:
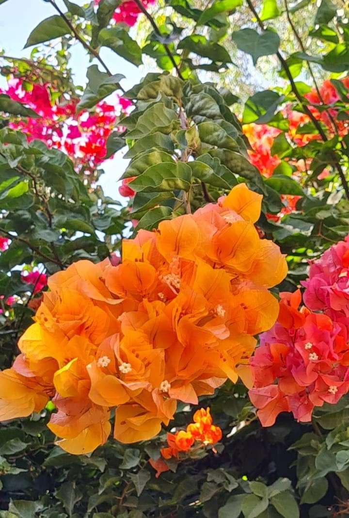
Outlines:
POLYGON ((86 75, 89 82, 77 105, 77 112, 86 108, 92 108, 100 100, 117 90, 119 82, 125 77, 122 74, 115 74, 109 77, 106 72, 98 70, 97 65, 91 65, 86 75))

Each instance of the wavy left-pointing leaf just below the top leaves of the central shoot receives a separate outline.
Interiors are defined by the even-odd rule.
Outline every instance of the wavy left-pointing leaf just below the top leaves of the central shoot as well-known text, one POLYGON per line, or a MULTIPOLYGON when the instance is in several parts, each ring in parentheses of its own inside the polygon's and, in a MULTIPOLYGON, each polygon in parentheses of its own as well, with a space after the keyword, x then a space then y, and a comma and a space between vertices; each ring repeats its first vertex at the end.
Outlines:
POLYGON ((177 113, 166 108, 164 103, 156 103, 140 116, 135 129, 127 133, 126 137, 141 138, 156 131, 169 134, 174 121, 179 123, 177 113))

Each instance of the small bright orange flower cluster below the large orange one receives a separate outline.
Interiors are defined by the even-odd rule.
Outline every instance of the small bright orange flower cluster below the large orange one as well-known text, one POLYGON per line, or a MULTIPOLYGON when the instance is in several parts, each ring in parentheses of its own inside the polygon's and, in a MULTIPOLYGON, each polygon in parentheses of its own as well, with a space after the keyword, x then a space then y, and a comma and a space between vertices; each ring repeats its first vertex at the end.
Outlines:
POLYGON ((183 460, 186 458, 186 452, 190 452, 194 443, 198 443, 193 451, 206 448, 209 444, 215 444, 222 439, 222 430, 219 426, 215 426, 210 414, 210 408, 200 408, 193 416, 193 423, 188 424, 186 430, 179 430, 176 434, 167 434, 167 447, 160 450, 161 457, 158 459, 149 459, 151 466, 157 470, 156 478, 164 471, 168 471, 169 467, 163 459, 175 457, 183 460))

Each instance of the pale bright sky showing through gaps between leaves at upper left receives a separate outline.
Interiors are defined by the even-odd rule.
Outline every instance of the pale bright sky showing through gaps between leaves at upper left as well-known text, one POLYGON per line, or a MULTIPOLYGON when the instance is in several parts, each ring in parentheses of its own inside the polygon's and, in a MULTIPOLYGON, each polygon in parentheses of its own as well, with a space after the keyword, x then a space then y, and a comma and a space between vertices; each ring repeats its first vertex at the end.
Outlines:
MULTIPOLYGON (((74 2, 83 5, 86 0, 74 0, 74 2)), ((63 12, 66 11, 62 0, 57 0, 57 5, 63 12)), ((54 8, 45 0, 6 0, 0 5, 0 49, 9 56, 30 57, 32 47, 23 50, 27 37, 40 21, 54 14, 56 14, 54 8)), ((71 54, 70 66, 74 73, 74 82, 85 85, 86 70, 91 64, 89 55, 79 42, 71 49, 71 54)), ((138 83, 148 71, 143 67, 137 68, 109 49, 102 48, 100 55, 113 74, 125 76, 121 81, 125 90, 138 83)), ((96 60, 92 63, 98 64, 96 60)), ((0 76, 0 86, 4 87, 5 84, 4 78, 0 76)), ((127 166, 127 161, 123 160, 124 153, 125 151, 121 150, 115 153, 112 160, 104 162, 103 168, 106 172, 99 181, 106 195, 119 200, 122 198, 118 191, 120 184, 118 180, 127 166)))

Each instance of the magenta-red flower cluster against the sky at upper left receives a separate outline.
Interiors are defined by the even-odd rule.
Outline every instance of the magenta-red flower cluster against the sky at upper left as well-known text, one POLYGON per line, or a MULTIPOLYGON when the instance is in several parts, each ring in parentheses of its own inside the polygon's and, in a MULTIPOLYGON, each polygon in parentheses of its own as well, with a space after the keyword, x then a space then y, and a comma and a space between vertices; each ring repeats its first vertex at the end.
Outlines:
POLYGON ((92 113, 77 113, 78 99, 52 103, 51 91, 48 83, 31 83, 28 89, 22 79, 9 79, 4 93, 40 115, 36 119, 12 121, 9 127, 23 132, 28 141, 39 139, 49 148, 61 149, 69 155, 77 172, 91 175, 107 154, 107 139, 118 122, 118 114, 127 112, 131 103, 115 96, 114 104, 100 102, 92 113))

